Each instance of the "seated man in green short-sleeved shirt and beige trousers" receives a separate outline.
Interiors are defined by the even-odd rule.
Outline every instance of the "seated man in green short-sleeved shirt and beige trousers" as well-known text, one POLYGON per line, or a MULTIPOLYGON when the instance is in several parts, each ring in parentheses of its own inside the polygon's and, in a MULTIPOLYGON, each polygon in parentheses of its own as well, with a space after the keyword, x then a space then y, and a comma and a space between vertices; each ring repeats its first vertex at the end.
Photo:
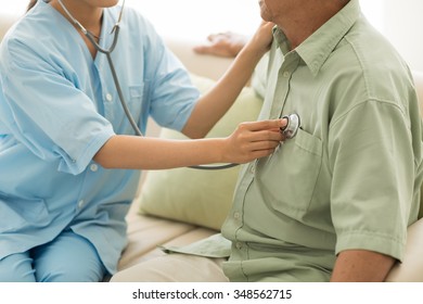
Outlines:
MULTIPOLYGON (((228 259, 170 254, 114 281, 383 281, 403 258, 422 181, 407 64, 358 0, 259 4, 277 24, 259 119, 297 113, 302 128, 243 167, 222 226, 228 259)), ((213 237, 191 253, 223 241, 213 237)))

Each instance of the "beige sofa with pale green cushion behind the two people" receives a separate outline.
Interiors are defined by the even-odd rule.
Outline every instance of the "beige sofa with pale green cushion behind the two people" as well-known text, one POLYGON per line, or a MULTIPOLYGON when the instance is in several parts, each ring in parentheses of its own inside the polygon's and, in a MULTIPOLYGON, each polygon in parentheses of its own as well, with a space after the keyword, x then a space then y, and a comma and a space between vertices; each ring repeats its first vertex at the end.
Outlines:
MULTIPOLYGON (((0 13, 0 41, 17 16, 0 13)), ((192 47, 197 41, 165 37, 168 47, 190 71, 193 84, 201 91, 231 64, 230 59, 197 55, 192 47)), ((413 72, 423 113, 423 73, 413 72)), ((251 87, 245 87, 228 114, 208 136, 227 136, 242 121, 255 119, 261 100, 251 87)), ((183 138, 161 129, 149 122, 149 136, 183 138)), ((128 245, 118 269, 165 254, 159 246, 185 245, 219 231, 228 213, 239 167, 220 172, 200 172, 190 168, 143 172, 137 198, 127 215, 128 245)), ((422 218, 422 208, 420 218, 422 218)), ((113 240, 110 240, 113 242, 113 240)), ((387 281, 423 281, 423 219, 409 227, 403 263, 392 269, 387 281)))

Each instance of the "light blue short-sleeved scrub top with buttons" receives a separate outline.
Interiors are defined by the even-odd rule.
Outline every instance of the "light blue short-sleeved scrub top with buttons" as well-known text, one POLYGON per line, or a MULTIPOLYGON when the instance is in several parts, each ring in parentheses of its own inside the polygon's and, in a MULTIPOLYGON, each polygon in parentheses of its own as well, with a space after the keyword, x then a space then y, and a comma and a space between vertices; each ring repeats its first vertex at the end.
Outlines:
MULTIPOLYGON (((103 48, 119 11, 104 10, 103 48)), ((125 9, 120 28, 112 58, 139 127, 151 115, 180 130, 198 98, 188 73, 136 11, 125 9)), ((38 1, 2 41, 0 85, 0 258, 72 229, 115 273, 140 173, 92 161, 113 135, 134 134, 105 55, 93 60, 75 27, 38 1)))

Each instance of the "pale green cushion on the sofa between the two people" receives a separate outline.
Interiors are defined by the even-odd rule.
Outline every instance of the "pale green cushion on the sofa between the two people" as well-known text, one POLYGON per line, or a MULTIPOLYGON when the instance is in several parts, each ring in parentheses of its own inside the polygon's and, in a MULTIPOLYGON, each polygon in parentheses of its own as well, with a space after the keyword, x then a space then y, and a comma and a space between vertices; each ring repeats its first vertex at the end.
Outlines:
MULTIPOLYGON (((192 75, 192 80, 202 92, 215 83, 195 75, 192 75)), ((256 121, 261 104, 262 100, 252 88, 244 88, 207 137, 226 137, 241 122, 256 121)), ((163 129, 161 137, 185 139, 170 129, 163 129)), ((238 166, 223 170, 176 168, 149 172, 136 203, 141 214, 219 230, 232 203, 239 169, 238 166)))

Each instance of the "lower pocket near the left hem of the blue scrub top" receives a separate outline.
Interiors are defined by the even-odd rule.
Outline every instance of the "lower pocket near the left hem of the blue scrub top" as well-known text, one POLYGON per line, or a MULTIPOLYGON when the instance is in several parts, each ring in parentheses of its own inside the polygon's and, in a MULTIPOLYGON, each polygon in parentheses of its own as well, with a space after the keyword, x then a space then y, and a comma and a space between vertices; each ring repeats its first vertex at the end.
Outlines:
POLYGON ((44 227, 50 224, 46 202, 41 199, 22 199, 0 192, 0 232, 44 227))

